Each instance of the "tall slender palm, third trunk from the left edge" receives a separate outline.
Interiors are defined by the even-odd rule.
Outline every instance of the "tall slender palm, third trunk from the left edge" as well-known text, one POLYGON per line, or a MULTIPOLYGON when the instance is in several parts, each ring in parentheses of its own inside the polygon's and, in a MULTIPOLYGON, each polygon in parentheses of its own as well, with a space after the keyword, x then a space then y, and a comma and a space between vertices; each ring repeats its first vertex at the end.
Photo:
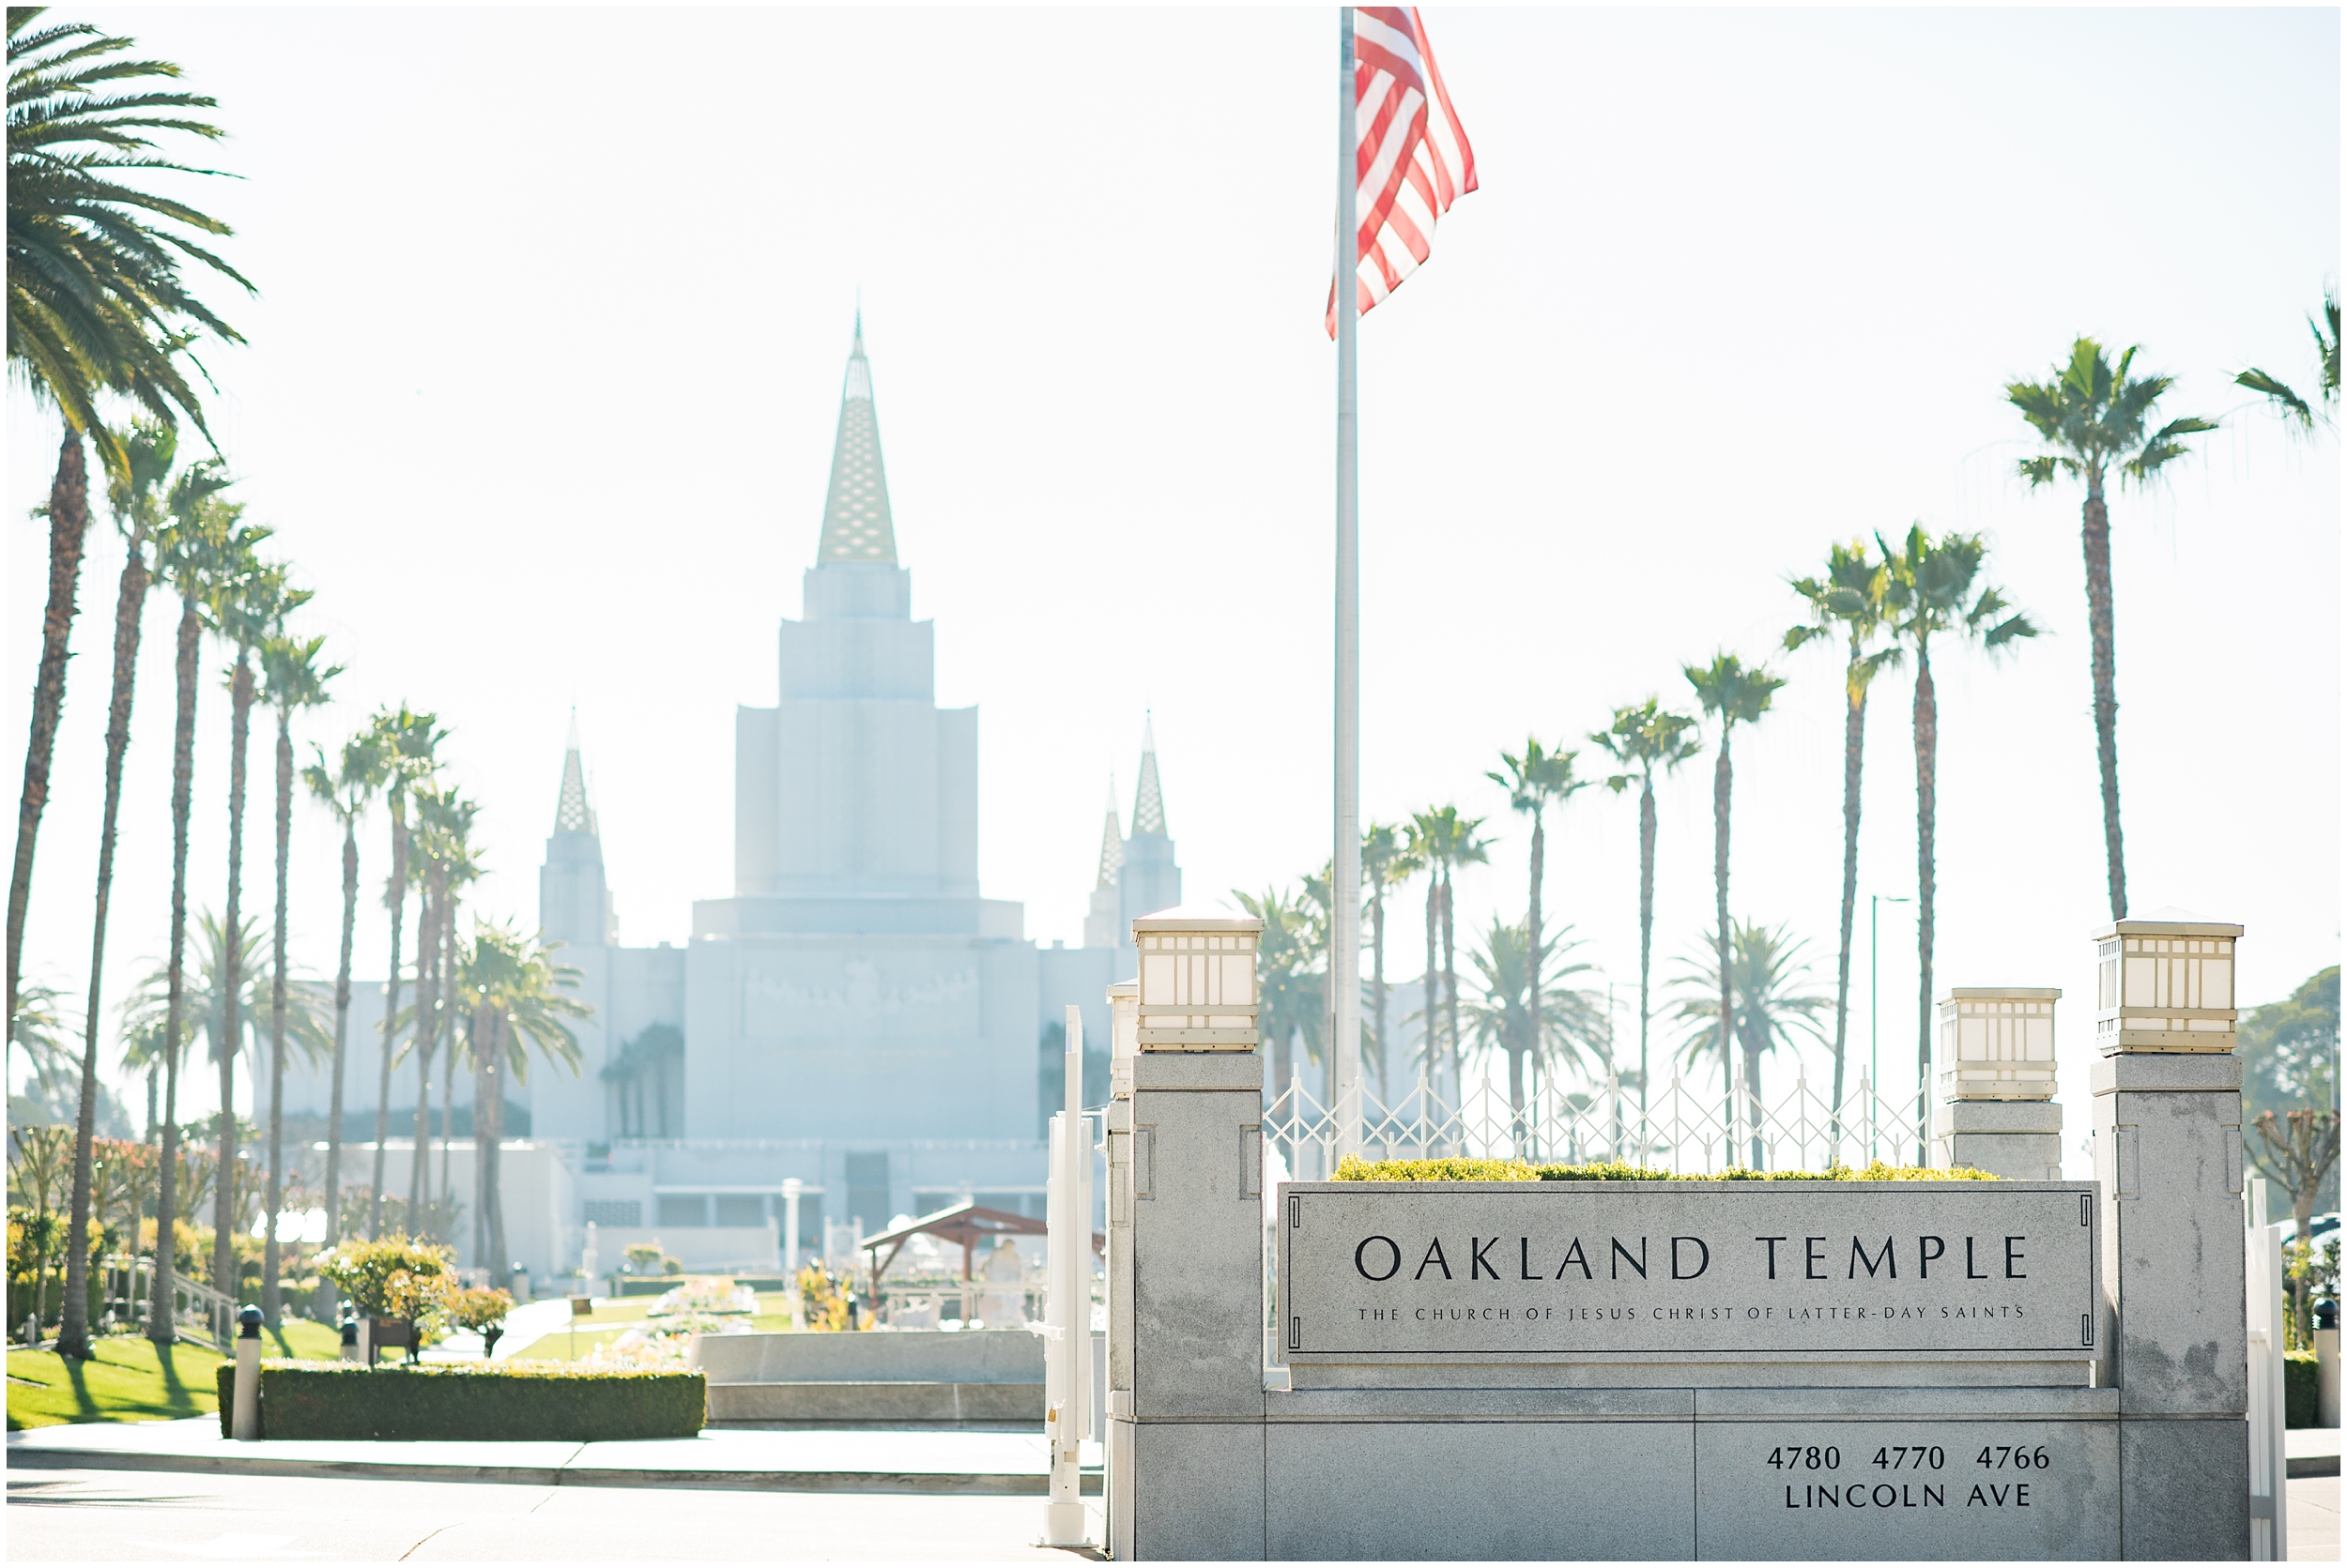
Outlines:
POLYGON ((174 655, 176 714, 171 721, 171 955, 167 962, 167 1014, 162 1030, 162 1176, 155 1183, 155 1293, 148 1303, 148 1336, 169 1345, 171 1275, 176 1253, 171 1225, 178 1218, 178 1056, 188 1040, 185 965, 188 965, 188 812, 195 789, 195 676, 204 653, 207 606, 239 570, 235 549, 242 502, 225 500, 216 488, 178 505, 174 491, 171 521, 155 535, 155 575, 178 594, 178 634, 174 655))

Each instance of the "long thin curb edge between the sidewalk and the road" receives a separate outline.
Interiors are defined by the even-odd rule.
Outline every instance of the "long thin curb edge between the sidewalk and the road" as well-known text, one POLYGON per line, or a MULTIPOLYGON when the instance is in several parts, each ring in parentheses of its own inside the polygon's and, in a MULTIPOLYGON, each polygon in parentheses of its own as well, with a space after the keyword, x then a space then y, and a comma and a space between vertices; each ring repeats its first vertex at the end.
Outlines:
MULTIPOLYGON (((603 1465, 399 1465, 385 1460, 244 1460, 211 1453, 122 1453, 12 1446, 9 1469, 143 1469, 228 1476, 314 1476, 340 1481, 476 1481, 498 1486, 681 1486, 699 1491, 962 1493, 1044 1498, 1040 1474, 880 1469, 622 1469, 603 1465)), ((1101 1495, 1101 1474, 1082 1479, 1101 1495)))

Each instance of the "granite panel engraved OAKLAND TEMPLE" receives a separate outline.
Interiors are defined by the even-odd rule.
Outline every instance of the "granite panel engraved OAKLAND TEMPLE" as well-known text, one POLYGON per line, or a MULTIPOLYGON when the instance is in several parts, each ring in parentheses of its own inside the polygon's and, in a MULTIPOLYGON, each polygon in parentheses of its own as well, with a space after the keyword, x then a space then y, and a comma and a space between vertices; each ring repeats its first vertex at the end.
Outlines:
POLYGON ((1291 1361, 2094 1350, 2094 1183, 1284 1183, 1291 1361))

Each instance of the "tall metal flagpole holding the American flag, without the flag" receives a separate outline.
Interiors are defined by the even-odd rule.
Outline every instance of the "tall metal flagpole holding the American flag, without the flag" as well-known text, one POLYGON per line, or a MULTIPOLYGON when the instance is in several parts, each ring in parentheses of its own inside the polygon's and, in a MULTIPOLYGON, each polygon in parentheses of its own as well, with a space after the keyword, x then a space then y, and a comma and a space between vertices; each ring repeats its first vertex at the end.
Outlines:
POLYGON ((1335 115, 1335 857, 1328 890, 1328 988, 1335 1038, 1335 1148, 1361 1148, 1361 425, 1354 394, 1361 277, 1354 214, 1352 7, 1340 7, 1335 115))

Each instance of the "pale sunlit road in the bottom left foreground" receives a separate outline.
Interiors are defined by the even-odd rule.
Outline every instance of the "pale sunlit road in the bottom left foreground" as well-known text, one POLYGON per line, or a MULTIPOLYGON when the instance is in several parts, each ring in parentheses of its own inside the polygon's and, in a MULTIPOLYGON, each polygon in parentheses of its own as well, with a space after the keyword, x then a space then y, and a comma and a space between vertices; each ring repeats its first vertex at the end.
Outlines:
MULTIPOLYGON (((1098 1540, 1098 1500, 1094 1512, 1098 1540)), ((1042 1498, 483 1486, 122 1469, 12 1469, 7 1559, 1073 1561, 1030 1545, 1042 1498)))

